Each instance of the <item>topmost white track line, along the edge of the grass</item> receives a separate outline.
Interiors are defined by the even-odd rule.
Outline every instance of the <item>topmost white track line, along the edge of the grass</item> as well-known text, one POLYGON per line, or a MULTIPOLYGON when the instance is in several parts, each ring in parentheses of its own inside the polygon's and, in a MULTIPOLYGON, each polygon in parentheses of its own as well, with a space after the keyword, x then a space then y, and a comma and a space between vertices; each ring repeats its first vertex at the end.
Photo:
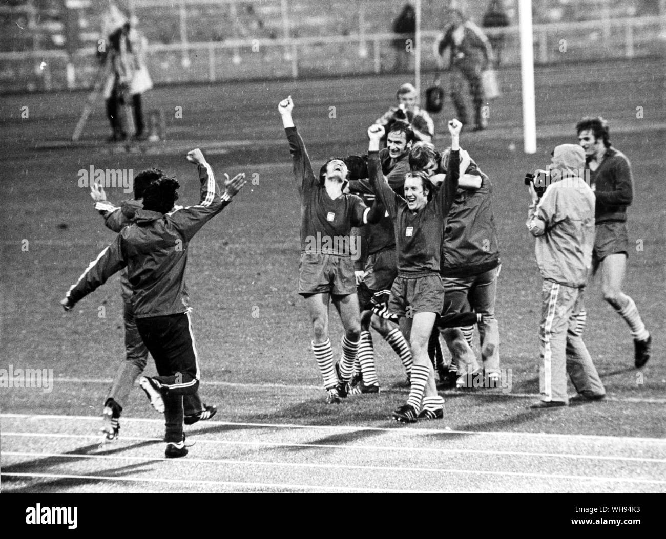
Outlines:
MULTIPOLYGON (((11 414, 0 413, 0 418, 8 419, 61 419, 61 420, 82 420, 82 421, 101 421, 96 415, 43 415, 43 414, 11 414)), ((123 421, 146 421, 148 423, 159 423, 163 425, 163 419, 143 419, 141 417, 123 417, 123 421)), ((500 435, 500 436, 525 436, 525 437, 553 437, 553 438, 574 438, 574 439, 599 439, 603 441, 627 441, 627 442, 649 442, 658 443, 666 446, 666 439, 662 438, 639 438, 639 437, 619 437, 602 435, 573 435, 557 433, 524 433, 514 431, 447 431, 445 429, 410 429, 409 427, 395 427, 388 429, 386 427, 354 427, 352 425, 294 425, 290 423, 240 423, 233 421, 206 421, 206 425, 218 426, 227 425, 230 427, 264 427, 266 429, 314 429, 324 431, 377 431, 382 433, 407 433, 417 434, 464 434, 464 435, 500 435)))

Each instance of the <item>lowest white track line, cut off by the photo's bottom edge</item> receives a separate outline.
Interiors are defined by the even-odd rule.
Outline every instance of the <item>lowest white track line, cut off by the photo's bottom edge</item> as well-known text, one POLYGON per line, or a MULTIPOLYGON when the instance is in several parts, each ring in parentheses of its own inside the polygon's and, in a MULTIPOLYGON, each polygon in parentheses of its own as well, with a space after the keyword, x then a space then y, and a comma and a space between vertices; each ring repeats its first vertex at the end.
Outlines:
MULTIPOLYGON (((171 460, 171 459, 169 459, 171 460)), ((141 478, 141 477, 111 477, 103 475, 75 475, 75 474, 38 474, 38 473, 0 473, 7 477, 34 477, 49 479, 95 479, 100 481, 127 481, 143 483, 167 483, 167 484, 202 484, 208 486, 233 486, 240 488, 288 488, 291 490, 326 490, 333 492, 388 492, 391 494, 438 494, 438 490, 394 490, 390 488, 362 488, 353 486, 324 486, 317 484, 289 484, 289 483, 243 483, 234 481, 212 481, 205 479, 164 479, 164 478, 141 478)), ((7 484, 5 484, 7 488, 7 484)), ((487 492, 487 491, 486 491, 487 492)))

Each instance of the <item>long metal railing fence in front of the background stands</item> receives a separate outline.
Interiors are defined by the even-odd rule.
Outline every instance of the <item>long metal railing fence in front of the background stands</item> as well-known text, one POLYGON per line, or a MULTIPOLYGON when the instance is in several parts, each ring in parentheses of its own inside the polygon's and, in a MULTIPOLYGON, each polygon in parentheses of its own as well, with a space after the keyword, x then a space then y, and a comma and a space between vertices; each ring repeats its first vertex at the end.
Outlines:
MULTIPOLYGON (((519 64, 517 26, 486 33, 502 43, 502 66, 519 64)), ((433 49, 439 35, 422 33, 422 71, 438 67, 433 49)), ((533 35, 537 64, 663 55, 666 16, 535 25, 533 35)), ((390 73, 396 55, 404 54, 395 48, 398 39, 411 37, 357 33, 153 43, 148 67, 158 84, 390 73)), ((97 61, 89 49, 71 56, 62 50, 0 53, 0 90, 5 92, 88 88, 95 73, 97 61)))

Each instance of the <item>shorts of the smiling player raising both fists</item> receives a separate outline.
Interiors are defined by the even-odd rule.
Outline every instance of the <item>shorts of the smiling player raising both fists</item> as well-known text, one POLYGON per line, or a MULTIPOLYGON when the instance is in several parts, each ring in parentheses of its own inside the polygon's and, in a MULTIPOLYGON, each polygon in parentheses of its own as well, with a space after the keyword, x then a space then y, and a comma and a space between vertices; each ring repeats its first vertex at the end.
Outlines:
POLYGON ((388 310, 398 316, 416 313, 441 313, 444 307, 444 283, 438 273, 423 277, 396 277, 391 287, 388 310))

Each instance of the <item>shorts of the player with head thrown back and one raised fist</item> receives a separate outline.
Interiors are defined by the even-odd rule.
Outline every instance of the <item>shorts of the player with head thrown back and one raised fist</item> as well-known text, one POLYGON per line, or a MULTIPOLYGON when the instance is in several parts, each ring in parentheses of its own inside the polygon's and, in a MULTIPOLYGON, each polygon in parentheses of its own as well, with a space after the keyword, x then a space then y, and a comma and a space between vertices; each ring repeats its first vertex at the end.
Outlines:
POLYGON ((348 256, 301 253, 298 260, 298 293, 304 296, 356 293, 354 260, 348 256))

